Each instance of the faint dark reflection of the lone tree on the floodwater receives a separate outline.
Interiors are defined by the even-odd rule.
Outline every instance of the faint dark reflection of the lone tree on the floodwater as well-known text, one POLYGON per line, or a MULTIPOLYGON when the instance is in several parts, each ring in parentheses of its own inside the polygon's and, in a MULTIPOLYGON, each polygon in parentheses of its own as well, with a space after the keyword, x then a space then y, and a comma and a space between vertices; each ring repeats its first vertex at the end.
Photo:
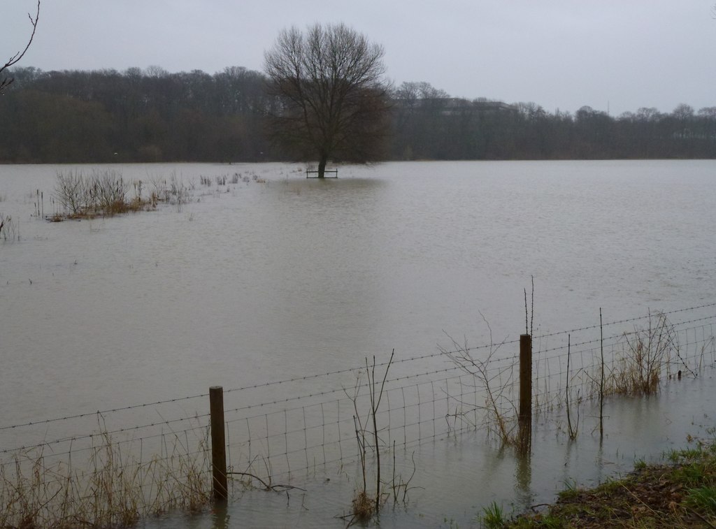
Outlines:
POLYGON ((361 351, 374 343, 390 319, 381 274, 384 228, 377 222, 384 187, 361 178, 270 188, 276 204, 262 227, 265 264, 253 279, 264 302, 254 310, 261 311, 261 326, 277 331, 269 338, 277 364, 294 363, 299 353, 301 369, 322 370, 349 344, 361 351))

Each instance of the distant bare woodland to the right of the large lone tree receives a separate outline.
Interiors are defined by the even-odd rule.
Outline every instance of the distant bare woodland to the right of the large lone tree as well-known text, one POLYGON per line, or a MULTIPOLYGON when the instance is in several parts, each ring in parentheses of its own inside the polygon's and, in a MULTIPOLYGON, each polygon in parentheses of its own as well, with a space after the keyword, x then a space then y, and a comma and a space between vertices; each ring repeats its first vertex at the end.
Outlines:
POLYGON ((716 157, 716 107, 640 108, 611 117, 591 107, 546 112, 533 102, 448 97, 427 83, 394 93, 392 157, 558 160, 716 157))

